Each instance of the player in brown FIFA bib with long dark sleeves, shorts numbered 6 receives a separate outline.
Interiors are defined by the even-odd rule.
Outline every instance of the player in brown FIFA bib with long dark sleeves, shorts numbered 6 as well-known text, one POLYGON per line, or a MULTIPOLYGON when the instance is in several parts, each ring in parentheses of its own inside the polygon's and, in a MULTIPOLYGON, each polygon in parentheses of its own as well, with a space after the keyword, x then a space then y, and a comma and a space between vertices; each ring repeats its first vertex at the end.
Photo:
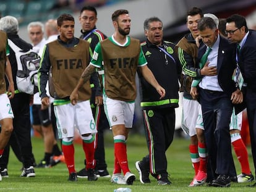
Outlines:
POLYGON ((54 86, 54 112, 58 119, 59 138, 62 138, 69 181, 77 181, 74 161, 74 128, 79 130, 83 140, 83 151, 87 159, 88 180, 97 180, 94 174, 94 135, 95 122, 90 108, 90 83, 86 83, 79 91, 79 103, 73 106, 69 96, 75 88, 80 75, 90 60, 90 44, 74 37, 74 17, 62 14, 58 18, 58 40, 46 44, 38 72, 39 90, 43 106, 49 106, 46 94, 46 83, 49 70, 52 72, 54 86))

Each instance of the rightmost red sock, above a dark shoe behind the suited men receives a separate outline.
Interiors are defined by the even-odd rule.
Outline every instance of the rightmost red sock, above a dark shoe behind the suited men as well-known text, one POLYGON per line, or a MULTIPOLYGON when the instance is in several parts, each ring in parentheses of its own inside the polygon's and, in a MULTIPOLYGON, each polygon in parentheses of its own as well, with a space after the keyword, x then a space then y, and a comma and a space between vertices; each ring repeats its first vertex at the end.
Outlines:
POLYGON ((248 152, 244 142, 240 138, 239 140, 233 141, 232 144, 234 151, 236 152, 237 159, 240 162, 242 173, 250 174, 251 172, 248 160, 248 152))

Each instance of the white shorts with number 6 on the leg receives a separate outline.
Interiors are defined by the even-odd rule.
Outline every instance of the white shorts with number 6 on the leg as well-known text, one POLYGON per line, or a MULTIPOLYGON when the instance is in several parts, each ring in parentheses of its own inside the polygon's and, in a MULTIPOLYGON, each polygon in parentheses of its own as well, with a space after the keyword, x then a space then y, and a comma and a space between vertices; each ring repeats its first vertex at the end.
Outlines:
POLYGON ((77 102, 54 106, 59 138, 74 137, 75 128, 80 135, 97 133, 95 120, 93 119, 90 101, 77 102))

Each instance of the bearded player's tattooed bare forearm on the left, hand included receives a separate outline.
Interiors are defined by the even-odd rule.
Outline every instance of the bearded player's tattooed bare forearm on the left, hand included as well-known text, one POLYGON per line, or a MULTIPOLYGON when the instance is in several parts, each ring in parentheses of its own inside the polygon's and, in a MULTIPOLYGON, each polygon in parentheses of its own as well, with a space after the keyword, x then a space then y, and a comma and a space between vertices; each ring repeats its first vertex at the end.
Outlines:
POLYGON ((73 105, 75 105, 77 103, 78 91, 79 91, 80 87, 83 86, 83 84, 86 83, 90 79, 93 72, 95 72, 95 67, 93 65, 88 65, 87 68, 83 71, 83 73, 79 79, 79 82, 77 83, 77 86, 75 86, 74 90, 72 91, 72 93, 69 96, 69 99, 73 105))

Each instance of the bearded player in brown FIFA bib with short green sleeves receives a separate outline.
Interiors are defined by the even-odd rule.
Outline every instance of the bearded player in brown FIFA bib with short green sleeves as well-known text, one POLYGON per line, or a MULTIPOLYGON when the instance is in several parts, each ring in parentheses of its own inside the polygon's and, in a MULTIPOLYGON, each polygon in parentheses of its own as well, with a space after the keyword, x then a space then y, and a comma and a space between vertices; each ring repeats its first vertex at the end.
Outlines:
POLYGON ((138 67, 145 80, 160 94, 160 99, 164 98, 165 90, 148 69, 147 61, 140 48, 140 41, 127 36, 130 33, 129 12, 124 9, 116 10, 112 14, 112 21, 114 34, 97 44, 90 65, 85 69, 79 83, 70 94, 70 101, 76 104, 77 93, 83 83, 90 79, 96 67, 104 67, 103 101, 114 136, 114 171, 111 182, 132 185, 135 175, 129 170, 126 140, 134 118, 135 74, 138 67))

